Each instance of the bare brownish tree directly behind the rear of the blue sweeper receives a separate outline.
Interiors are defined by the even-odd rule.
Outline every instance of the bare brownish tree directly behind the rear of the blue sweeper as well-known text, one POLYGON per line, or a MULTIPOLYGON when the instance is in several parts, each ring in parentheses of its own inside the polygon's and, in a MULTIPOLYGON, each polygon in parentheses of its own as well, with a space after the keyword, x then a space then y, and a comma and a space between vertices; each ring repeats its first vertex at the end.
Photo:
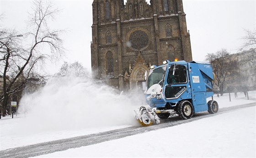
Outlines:
POLYGON ((234 69, 237 69, 237 64, 230 59, 230 54, 226 49, 221 49, 216 53, 208 53, 206 60, 213 66, 213 72, 216 75, 214 84, 219 87, 220 95, 223 95, 225 86, 232 79, 230 74, 232 75, 234 69))

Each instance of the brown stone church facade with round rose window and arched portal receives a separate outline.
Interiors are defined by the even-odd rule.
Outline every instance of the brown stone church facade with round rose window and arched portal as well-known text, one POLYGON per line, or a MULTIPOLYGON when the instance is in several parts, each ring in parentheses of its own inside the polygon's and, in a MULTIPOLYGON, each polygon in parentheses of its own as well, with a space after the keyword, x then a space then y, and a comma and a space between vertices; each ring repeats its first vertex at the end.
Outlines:
POLYGON ((192 61, 182 0, 94 0, 92 8, 94 78, 119 90, 142 89, 151 65, 192 61))

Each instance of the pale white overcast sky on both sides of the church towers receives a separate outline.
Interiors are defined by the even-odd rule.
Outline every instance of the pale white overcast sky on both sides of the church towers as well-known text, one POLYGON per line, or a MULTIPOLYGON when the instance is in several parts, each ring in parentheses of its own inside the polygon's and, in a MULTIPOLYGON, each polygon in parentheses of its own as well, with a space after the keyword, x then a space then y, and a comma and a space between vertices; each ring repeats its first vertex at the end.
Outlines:
MULTIPOLYGON (((31 1, 0 0, 0 14, 4 13, 0 26, 25 33, 31 1)), ((68 52, 55 68, 48 68, 50 73, 57 72, 63 61, 79 61, 91 70, 92 2, 53 0, 55 7, 61 10, 53 26, 68 30, 62 36, 68 52)), ((195 61, 204 61, 207 53, 221 48, 237 53, 243 42, 241 37, 245 36, 244 29, 256 29, 256 0, 183 0, 183 7, 195 61)))

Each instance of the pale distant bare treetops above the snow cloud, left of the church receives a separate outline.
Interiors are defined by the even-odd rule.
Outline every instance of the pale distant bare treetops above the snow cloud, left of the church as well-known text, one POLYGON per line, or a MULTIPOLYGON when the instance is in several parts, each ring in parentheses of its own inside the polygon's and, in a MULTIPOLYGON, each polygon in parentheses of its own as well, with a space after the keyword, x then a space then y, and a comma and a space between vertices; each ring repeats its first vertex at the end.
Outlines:
POLYGON ((57 73, 58 76, 66 76, 66 75, 73 75, 75 77, 87 77, 89 76, 87 69, 83 67, 83 65, 79 62, 71 63, 64 62, 64 64, 61 66, 59 73, 57 73))

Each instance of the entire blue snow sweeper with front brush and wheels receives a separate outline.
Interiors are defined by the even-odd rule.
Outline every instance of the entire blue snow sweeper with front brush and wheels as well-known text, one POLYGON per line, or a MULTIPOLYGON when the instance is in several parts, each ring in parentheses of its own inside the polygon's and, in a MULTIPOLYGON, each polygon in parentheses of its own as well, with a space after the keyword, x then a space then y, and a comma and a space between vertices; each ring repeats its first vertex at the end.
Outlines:
POLYGON ((194 113, 218 112, 219 105, 213 96, 212 65, 203 62, 168 60, 160 66, 151 66, 145 72, 146 90, 144 96, 150 108, 141 106, 135 110, 135 117, 143 126, 149 126, 160 119, 177 114, 181 119, 189 119, 194 113), (213 97, 212 97, 213 98, 213 97))

